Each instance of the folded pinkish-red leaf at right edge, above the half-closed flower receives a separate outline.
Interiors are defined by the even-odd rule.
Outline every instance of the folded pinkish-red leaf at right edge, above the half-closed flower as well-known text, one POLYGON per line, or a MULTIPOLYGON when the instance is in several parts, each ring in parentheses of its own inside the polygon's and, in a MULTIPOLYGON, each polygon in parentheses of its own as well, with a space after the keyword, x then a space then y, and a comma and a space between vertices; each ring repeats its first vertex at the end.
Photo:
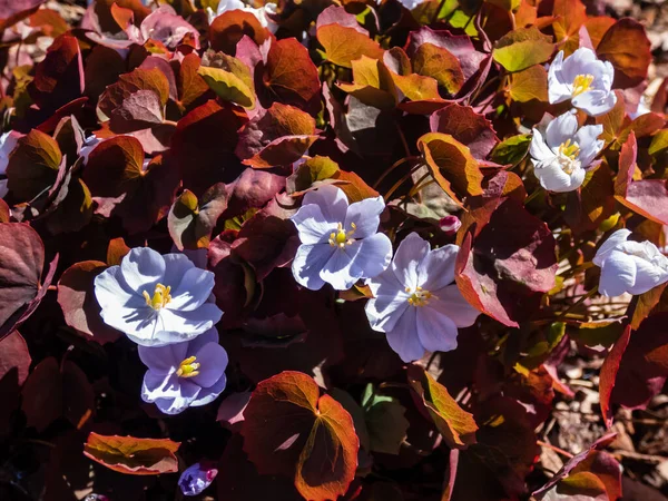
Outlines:
POLYGON ((619 173, 615 181, 615 198, 629 209, 655 223, 668 224, 668 188, 665 179, 633 180, 638 146, 631 132, 621 147, 619 173))

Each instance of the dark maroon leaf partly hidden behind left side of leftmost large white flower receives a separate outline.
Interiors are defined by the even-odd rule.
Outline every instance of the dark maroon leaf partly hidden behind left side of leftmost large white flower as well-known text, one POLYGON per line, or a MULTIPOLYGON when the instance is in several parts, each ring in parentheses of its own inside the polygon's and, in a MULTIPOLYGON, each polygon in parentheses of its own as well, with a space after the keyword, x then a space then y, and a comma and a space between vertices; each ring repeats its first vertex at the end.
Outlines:
POLYGON ((120 335, 102 322, 92 289, 95 277, 106 268, 99 261, 82 261, 67 268, 58 282, 58 304, 65 322, 100 344, 114 342, 120 335))

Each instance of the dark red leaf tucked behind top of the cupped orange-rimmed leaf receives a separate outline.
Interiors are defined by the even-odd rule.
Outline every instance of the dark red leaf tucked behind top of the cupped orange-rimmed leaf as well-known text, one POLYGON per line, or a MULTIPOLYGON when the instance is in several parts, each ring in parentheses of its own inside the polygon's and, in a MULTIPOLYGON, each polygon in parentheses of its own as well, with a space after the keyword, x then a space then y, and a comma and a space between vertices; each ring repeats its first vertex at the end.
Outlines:
POLYGON ((448 134, 468 146, 473 158, 480 160, 487 158, 499 143, 491 121, 473 111, 470 106, 456 102, 432 114, 430 128, 432 132, 448 134))

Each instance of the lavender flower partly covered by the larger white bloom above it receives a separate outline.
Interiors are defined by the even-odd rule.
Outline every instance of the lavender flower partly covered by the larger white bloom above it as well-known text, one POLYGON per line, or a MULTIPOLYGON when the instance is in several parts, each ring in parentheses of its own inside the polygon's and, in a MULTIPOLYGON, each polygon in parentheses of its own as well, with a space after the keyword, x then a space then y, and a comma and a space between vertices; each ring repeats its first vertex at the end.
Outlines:
POLYGON ((165 414, 206 405, 225 390, 227 353, 215 328, 183 343, 139 346, 139 357, 148 367, 141 399, 165 414))

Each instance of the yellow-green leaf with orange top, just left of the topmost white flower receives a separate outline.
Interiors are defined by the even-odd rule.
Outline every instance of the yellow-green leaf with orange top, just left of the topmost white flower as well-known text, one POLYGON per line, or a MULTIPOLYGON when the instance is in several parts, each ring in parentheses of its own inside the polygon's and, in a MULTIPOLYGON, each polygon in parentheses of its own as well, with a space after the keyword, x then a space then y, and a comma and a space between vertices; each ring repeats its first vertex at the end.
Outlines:
POLYGON ((522 71, 547 61, 554 51, 552 37, 541 33, 538 28, 520 28, 503 36, 494 45, 494 61, 508 71, 522 71))

